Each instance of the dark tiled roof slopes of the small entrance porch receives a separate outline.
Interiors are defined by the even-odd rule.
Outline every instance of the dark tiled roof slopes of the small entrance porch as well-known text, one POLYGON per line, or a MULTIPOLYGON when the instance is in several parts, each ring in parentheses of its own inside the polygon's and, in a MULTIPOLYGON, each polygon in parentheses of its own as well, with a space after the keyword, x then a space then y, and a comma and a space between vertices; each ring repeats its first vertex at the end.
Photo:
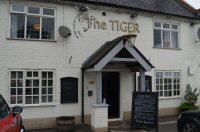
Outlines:
MULTIPOLYGON (((99 49, 97 49, 91 56, 87 58, 87 60, 82 64, 82 68, 83 69, 94 68, 94 66, 98 64, 121 41, 123 41, 123 43, 125 44, 129 38, 133 37, 136 37, 136 35, 123 35, 117 37, 112 41, 106 42, 99 49)), ((146 57, 135 46, 129 48, 132 48, 132 50, 134 50, 143 59, 143 61, 146 62, 146 64, 149 67, 154 68, 154 66, 146 59, 146 57)))

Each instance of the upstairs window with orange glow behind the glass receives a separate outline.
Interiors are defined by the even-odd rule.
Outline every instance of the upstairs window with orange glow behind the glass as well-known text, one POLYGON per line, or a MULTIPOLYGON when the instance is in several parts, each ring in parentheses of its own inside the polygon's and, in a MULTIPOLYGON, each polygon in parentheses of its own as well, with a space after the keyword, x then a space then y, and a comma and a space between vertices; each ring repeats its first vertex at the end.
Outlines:
POLYGON ((55 9, 11 5, 11 38, 54 40, 55 9))

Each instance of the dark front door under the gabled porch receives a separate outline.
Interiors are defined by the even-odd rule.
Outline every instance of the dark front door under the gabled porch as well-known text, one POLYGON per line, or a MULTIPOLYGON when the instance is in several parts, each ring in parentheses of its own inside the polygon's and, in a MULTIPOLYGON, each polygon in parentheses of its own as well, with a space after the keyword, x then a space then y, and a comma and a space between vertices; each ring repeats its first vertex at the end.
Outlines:
POLYGON ((106 100, 108 107, 108 118, 120 117, 120 79, 119 72, 102 73, 102 98, 106 100))

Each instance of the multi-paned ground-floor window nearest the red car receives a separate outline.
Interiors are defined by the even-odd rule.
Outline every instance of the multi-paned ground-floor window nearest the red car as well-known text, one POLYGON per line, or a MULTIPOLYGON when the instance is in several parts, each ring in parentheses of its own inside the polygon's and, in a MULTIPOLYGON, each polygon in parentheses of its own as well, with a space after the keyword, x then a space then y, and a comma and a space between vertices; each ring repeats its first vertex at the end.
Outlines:
POLYGON ((53 71, 10 71, 10 104, 53 103, 53 71))

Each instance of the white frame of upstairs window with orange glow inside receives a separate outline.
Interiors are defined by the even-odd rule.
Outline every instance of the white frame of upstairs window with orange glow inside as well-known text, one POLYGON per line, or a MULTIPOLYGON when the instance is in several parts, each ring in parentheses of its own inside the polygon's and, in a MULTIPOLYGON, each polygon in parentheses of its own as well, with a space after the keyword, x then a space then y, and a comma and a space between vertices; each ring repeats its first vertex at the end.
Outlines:
MULTIPOLYGON (((34 5, 23 5, 23 4, 10 4, 10 14, 22 14, 25 16, 25 24, 24 24, 24 38, 14 38, 14 39, 30 39, 30 40, 55 40, 56 38, 56 9, 51 8, 51 7, 43 7, 43 6, 34 6, 34 5), (18 12, 18 11, 12 11, 12 6, 13 5, 22 5, 25 6, 25 11, 24 12, 18 12), (33 14, 33 13, 28 13, 28 7, 37 7, 40 9, 40 14, 33 14), (43 15, 43 9, 53 9, 54 10, 54 15, 43 15), (27 17, 28 16, 37 16, 40 17, 40 34, 39 38, 27 38, 26 37, 26 32, 27 32, 27 17), (42 39, 42 18, 54 18, 54 36, 53 39, 42 39)), ((12 20, 10 19, 10 37, 11 37, 11 23, 12 20)), ((12 38, 12 37, 11 37, 12 38)))

